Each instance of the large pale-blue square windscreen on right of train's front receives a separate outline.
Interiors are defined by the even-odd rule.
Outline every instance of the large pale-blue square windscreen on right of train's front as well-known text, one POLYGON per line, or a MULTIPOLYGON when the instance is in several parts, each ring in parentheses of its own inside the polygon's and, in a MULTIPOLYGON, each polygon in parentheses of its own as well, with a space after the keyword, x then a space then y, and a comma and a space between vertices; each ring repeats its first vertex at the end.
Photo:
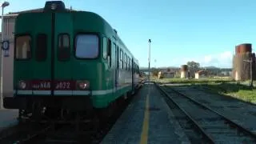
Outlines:
POLYGON ((75 56, 77 58, 98 57, 98 36, 95 34, 78 34, 75 41, 75 56))

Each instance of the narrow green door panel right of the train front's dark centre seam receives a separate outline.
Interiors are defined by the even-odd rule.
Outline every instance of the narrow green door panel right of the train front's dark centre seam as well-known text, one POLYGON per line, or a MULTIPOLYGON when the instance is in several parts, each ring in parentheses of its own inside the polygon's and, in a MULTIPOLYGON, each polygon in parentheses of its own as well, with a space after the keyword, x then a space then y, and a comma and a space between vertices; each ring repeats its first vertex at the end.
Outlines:
POLYGON ((52 49, 52 81, 54 94, 71 95, 73 75, 72 46, 73 19, 70 13, 56 13, 54 17, 54 43, 52 49), (65 92, 66 93, 63 93, 65 92))

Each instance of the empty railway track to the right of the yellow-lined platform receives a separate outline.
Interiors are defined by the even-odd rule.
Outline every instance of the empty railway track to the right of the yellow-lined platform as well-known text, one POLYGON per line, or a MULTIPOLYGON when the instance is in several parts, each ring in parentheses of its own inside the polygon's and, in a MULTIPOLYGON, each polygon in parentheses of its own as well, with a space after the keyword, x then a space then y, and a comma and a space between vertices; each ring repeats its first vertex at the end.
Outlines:
POLYGON ((156 86, 192 143, 256 142, 256 134, 210 107, 170 87, 156 86))

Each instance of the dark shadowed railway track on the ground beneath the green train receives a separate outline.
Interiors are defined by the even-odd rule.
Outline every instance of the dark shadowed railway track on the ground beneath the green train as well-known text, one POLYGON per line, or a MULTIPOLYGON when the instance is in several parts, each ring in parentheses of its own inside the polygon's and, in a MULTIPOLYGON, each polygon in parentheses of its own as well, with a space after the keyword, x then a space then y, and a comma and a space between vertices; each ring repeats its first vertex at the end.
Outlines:
POLYGON ((99 143, 105 136, 118 116, 113 116, 104 127, 94 129, 94 122, 80 123, 79 130, 74 124, 54 124, 52 122, 36 123, 26 122, 14 126, 12 130, 3 131, 0 135, 0 143, 99 143))

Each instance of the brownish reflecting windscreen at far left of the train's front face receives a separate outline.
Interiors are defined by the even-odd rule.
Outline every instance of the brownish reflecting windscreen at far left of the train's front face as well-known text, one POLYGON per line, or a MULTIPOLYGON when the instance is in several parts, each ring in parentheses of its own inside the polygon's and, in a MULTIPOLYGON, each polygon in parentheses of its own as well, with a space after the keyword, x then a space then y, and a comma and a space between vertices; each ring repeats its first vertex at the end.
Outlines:
POLYGON ((31 38, 28 35, 18 36, 15 38, 15 58, 31 58, 31 38))

